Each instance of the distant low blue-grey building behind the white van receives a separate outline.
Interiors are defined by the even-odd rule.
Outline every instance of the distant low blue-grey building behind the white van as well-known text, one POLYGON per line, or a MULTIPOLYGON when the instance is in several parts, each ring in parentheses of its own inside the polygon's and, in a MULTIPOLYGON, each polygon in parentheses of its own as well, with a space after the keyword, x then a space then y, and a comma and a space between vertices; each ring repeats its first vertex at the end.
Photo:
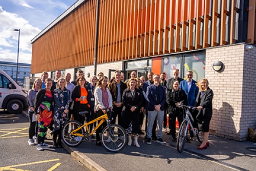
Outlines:
MULTIPOLYGON (((8 76, 16 81, 17 63, 15 62, 2 62, 0 61, 0 68, 3 69, 8 76)), ((17 82, 24 83, 25 77, 30 76, 31 64, 18 63, 18 78, 17 82)))

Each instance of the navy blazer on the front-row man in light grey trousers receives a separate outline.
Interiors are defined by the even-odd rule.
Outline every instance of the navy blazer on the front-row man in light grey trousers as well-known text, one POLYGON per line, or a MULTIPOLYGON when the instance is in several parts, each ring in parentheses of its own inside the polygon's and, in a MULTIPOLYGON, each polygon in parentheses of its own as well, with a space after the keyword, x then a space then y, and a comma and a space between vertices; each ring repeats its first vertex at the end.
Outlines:
POLYGON ((154 111, 155 105, 161 105, 160 110, 164 110, 164 104, 166 102, 166 90, 159 84, 159 100, 157 101, 157 87, 153 84, 146 88, 146 97, 148 104, 146 109, 148 111, 154 111))

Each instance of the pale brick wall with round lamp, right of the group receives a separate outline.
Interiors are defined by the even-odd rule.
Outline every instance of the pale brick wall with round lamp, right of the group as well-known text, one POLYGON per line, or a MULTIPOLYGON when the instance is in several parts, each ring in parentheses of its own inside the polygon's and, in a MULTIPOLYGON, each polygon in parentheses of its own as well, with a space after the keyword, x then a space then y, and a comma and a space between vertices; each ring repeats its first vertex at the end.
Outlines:
POLYGON ((246 44, 234 44, 206 50, 205 77, 214 91, 214 112, 210 134, 236 140, 246 140, 248 127, 255 126, 256 115, 252 104, 256 100, 252 86, 255 52, 246 52, 246 44), (223 72, 212 69, 215 61, 225 65, 223 72))

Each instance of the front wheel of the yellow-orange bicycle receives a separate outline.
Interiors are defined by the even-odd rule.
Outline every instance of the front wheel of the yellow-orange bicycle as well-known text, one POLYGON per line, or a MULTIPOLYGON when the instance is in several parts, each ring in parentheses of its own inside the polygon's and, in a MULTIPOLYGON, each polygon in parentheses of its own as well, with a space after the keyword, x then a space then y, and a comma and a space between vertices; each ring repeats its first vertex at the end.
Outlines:
POLYGON ((100 140, 104 148, 109 152, 120 152, 126 145, 127 136, 124 129, 116 124, 106 126, 101 134, 100 140))

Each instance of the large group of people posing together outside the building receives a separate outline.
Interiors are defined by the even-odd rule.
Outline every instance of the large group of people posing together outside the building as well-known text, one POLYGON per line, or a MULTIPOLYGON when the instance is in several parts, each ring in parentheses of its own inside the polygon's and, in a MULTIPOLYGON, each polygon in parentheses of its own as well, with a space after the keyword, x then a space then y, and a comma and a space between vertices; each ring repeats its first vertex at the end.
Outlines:
MULTIPOLYGON (((114 78, 109 79, 102 72, 92 76, 90 83, 83 76, 83 71, 77 72, 77 79, 70 82, 70 73, 61 78, 61 72, 55 72, 55 80, 48 78, 47 72, 42 72, 41 79, 36 79, 29 90, 29 141, 30 145, 37 144, 37 150, 50 148, 45 143, 48 128, 53 133, 54 148, 61 146, 61 128, 68 116, 71 120, 84 123, 80 111, 89 111, 87 121, 105 114, 106 109, 113 110, 112 124, 118 123, 124 129, 132 123, 132 133, 128 136, 128 145, 134 144, 138 148, 138 134, 142 134, 144 115, 145 139, 147 144, 151 140, 165 143, 162 139, 162 129, 166 130, 166 114, 169 114, 169 132, 176 141, 176 117, 179 125, 183 120, 179 103, 197 106, 196 114, 198 128, 203 131, 204 140, 199 150, 209 146, 208 132, 212 114, 212 90, 208 87, 207 79, 201 79, 197 85, 193 71, 187 71, 187 79, 179 78, 179 69, 173 70, 174 77, 166 81, 166 74, 160 75, 148 72, 147 78, 137 78, 137 72, 132 71, 126 81, 120 70, 116 70, 114 78), (34 119, 34 115, 35 118, 34 119), (118 121, 116 120, 118 119, 118 121), (37 121, 35 121, 37 120, 37 121), (37 124, 38 123, 38 124, 37 124), (54 129, 53 129, 54 125, 54 129), (156 133, 157 129, 157 133, 156 133), (132 136, 133 135, 133 136, 132 136), (134 141, 132 140, 134 137, 134 141)), ((100 142, 100 133, 106 123, 96 131, 96 145, 100 142)), ((92 131, 93 125, 89 128, 92 131)))

